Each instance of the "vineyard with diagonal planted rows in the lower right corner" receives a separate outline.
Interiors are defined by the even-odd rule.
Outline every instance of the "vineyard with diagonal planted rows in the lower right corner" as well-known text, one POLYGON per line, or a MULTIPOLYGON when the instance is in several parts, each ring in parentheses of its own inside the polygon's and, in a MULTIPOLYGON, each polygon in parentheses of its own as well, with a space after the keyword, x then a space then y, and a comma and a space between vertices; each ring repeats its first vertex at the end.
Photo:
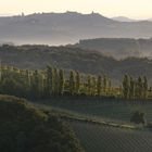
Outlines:
POLYGON ((151 152, 152 134, 71 122, 87 152, 151 152))

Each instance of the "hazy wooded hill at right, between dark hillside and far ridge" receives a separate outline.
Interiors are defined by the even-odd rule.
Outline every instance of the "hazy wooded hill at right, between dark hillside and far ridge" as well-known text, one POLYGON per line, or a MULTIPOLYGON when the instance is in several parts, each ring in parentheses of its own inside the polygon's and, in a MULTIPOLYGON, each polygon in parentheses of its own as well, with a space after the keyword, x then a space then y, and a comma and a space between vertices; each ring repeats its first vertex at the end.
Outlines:
POLYGON ((97 50, 105 55, 116 59, 128 56, 152 56, 152 38, 96 38, 79 40, 75 47, 88 50, 97 50))

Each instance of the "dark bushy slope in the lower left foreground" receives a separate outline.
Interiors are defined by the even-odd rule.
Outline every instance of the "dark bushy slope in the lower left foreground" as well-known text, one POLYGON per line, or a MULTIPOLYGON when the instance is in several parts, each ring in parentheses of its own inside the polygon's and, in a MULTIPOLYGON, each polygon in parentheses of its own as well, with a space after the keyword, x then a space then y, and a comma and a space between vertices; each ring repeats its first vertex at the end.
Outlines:
POLYGON ((0 96, 1 152, 83 152, 74 132, 58 116, 25 100, 0 96))

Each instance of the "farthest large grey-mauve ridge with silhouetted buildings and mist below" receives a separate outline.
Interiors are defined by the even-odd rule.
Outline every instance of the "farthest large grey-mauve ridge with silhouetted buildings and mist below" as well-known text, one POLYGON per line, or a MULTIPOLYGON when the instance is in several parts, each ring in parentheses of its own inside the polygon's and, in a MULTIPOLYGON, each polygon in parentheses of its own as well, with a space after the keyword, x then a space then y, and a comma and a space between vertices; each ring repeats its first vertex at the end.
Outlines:
POLYGON ((79 39, 148 38, 152 22, 117 22, 99 13, 35 13, 0 17, 0 41, 14 43, 75 43, 79 39))

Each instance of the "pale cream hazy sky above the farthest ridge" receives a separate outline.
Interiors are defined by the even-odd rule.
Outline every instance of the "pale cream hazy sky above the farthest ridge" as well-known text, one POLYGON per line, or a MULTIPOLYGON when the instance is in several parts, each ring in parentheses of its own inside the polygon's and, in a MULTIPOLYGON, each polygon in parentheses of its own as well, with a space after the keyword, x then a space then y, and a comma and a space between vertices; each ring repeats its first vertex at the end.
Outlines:
POLYGON ((152 17, 152 0, 1 0, 0 14, 34 12, 99 12, 105 16, 152 17))

